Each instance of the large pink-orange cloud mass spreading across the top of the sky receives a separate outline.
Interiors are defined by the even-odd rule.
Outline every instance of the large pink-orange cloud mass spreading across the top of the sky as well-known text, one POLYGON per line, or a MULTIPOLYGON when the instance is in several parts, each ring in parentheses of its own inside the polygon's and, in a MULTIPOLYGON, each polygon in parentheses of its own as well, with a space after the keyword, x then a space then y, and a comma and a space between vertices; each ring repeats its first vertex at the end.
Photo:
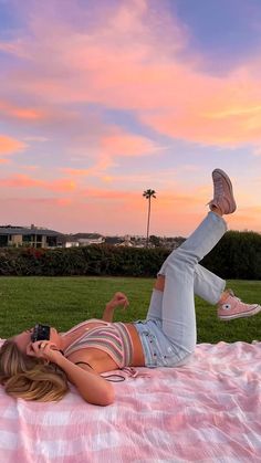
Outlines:
MULTIPOLYGON (((203 70, 199 54, 187 51, 181 60, 188 31, 168 14, 166 4, 155 13, 145 0, 119 2, 115 9, 105 9, 104 15, 95 10, 87 33, 65 18, 58 19, 55 9, 52 15, 48 7, 41 14, 34 8, 30 28, 35 40, 24 36, 4 44, 7 52, 24 53, 27 63, 20 73, 11 73, 7 87, 45 104, 84 102, 135 111, 142 123, 174 138, 230 147, 259 143, 259 62, 249 61, 216 77, 203 70), (46 71, 50 60, 52 72, 46 71)), ((76 3, 71 8, 80 15, 76 3)), ((33 108, 24 112, 17 117, 38 114, 33 108)), ((46 117, 51 120, 52 113, 46 117)), ((137 139, 137 147, 134 139, 126 138, 125 144, 108 137, 104 144, 113 149, 113 141, 115 150, 133 145, 134 152, 142 143, 137 139)), ((142 149, 148 148, 144 141, 142 149)))

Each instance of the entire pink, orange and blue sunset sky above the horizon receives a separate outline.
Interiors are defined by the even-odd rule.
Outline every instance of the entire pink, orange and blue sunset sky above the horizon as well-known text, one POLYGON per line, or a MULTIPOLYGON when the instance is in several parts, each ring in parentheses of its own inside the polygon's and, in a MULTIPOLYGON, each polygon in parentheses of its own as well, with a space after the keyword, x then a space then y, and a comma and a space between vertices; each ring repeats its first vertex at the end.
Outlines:
POLYGON ((261 232, 260 0, 0 0, 0 224, 261 232))

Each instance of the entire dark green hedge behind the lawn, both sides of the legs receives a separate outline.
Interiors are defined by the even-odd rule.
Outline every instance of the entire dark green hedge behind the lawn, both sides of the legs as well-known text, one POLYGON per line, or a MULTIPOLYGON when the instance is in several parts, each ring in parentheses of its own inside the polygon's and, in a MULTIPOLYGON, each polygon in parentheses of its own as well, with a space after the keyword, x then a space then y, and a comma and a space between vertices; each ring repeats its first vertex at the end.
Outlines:
MULTIPOLYGON (((0 275, 155 276, 169 251, 91 245, 72 249, 0 249, 0 275)), ((261 235, 231 231, 202 260, 223 278, 261 280, 261 235)))

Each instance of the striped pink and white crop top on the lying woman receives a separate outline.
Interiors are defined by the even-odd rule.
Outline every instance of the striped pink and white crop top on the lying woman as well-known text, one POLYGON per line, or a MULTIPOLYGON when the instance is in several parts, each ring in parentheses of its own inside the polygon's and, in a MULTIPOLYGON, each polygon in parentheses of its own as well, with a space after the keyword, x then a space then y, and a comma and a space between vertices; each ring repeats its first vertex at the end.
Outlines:
POLYGON ((109 323, 92 318, 74 326, 72 329, 66 332, 66 335, 81 327, 85 327, 85 332, 69 347, 66 347, 64 350, 65 357, 76 350, 85 349, 86 347, 94 347, 95 349, 100 349, 108 354, 119 368, 127 367, 132 364, 133 341, 126 326, 123 323, 109 323), (101 323, 101 326, 88 328, 87 325, 95 322, 101 323))

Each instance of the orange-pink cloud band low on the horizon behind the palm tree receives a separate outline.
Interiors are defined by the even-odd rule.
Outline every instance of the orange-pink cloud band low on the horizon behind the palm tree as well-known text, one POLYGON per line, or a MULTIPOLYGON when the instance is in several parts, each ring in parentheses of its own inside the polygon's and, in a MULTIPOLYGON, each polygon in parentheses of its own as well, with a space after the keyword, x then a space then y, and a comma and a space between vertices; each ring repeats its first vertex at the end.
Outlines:
MULTIPOLYGON (((35 223, 62 232, 97 231, 107 234, 144 234, 147 201, 137 193, 90 189, 81 198, 2 198, 4 223, 35 223), (90 200, 88 200, 90 198, 90 200), (109 199, 105 201, 105 199, 109 199), (135 220, 134 220, 135 214, 135 220), (44 221, 44 223, 43 223, 44 221)), ((208 212, 200 198, 165 192, 152 204, 150 233, 188 236, 208 212)), ((230 229, 260 230, 261 210, 246 208, 227 218, 230 229)))

